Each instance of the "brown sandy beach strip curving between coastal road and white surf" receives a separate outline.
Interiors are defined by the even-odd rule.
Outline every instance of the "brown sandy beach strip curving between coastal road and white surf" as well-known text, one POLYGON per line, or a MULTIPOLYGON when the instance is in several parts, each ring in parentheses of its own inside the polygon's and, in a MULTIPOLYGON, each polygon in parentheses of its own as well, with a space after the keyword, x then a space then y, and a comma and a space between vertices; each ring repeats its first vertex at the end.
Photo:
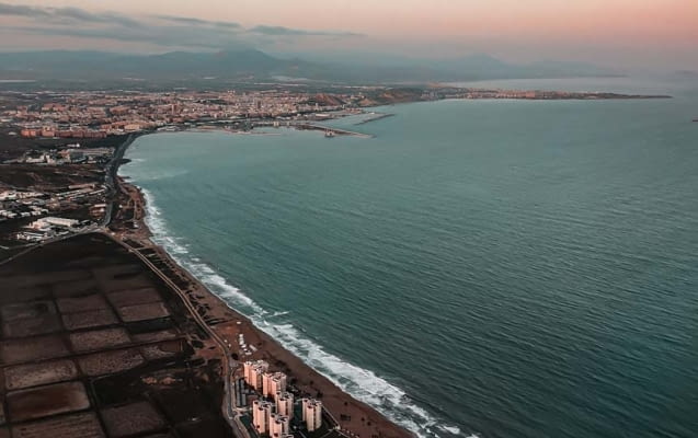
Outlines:
MULTIPOLYGON (((121 145, 118 149, 125 153, 131 143, 133 139, 130 141, 127 140, 121 145)), ((136 224, 135 229, 125 231, 121 233, 121 235, 117 233, 117 235, 119 235, 117 239, 127 242, 138 242, 155 250, 160 257, 169 261, 172 268, 176 270, 176 275, 194 285, 194 292, 187 293, 188 300, 190 302, 193 301, 194 307, 198 309, 199 313, 204 311, 205 314, 215 315, 214 320, 216 322, 209 323, 208 326, 221 335, 221 337, 232 341, 231 344, 233 348, 237 345, 237 338, 240 334, 244 336, 248 345, 255 346, 256 349, 251 356, 244 356, 244 358, 242 358, 242 353, 240 351, 240 360, 267 360, 273 369, 286 372, 289 380, 293 381, 294 385, 302 393, 312 396, 321 395, 327 412, 331 414, 341 429, 346 433, 363 438, 374 436, 384 438, 416 437, 415 433, 389 419, 385 414, 378 412, 369 404, 355 399, 352 394, 345 392, 337 384, 332 382, 330 378, 306 364, 272 335, 259 327, 251 318, 241 313, 213 292, 209 287, 204 284, 203 279, 191 273, 183 266, 183 263, 178 261, 162 244, 157 242, 153 239, 156 235, 148 224, 147 218, 151 217, 147 212, 147 197, 140 187, 126 181, 124 176, 118 175, 118 169, 122 163, 123 160, 121 159, 115 163, 116 197, 114 200, 117 201, 119 195, 128 196, 128 198, 133 200, 134 210, 137 214, 134 215, 133 218, 136 224), (228 319, 228 321, 219 322, 222 314, 231 314, 232 318, 228 319)), ((236 374, 241 372, 241 367, 234 370, 234 372, 236 374)))

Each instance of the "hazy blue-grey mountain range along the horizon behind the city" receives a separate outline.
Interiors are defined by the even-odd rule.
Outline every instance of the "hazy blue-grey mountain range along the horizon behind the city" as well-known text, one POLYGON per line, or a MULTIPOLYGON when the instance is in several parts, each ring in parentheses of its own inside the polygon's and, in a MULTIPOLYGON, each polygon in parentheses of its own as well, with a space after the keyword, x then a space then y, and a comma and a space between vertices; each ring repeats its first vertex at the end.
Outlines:
POLYGON ((341 62, 283 59, 255 49, 218 53, 171 51, 124 55, 101 51, 25 51, 0 54, 0 79, 35 80, 202 80, 234 81, 302 78, 346 83, 405 83, 483 79, 604 76, 608 71, 575 62, 513 65, 488 55, 409 62, 341 62))

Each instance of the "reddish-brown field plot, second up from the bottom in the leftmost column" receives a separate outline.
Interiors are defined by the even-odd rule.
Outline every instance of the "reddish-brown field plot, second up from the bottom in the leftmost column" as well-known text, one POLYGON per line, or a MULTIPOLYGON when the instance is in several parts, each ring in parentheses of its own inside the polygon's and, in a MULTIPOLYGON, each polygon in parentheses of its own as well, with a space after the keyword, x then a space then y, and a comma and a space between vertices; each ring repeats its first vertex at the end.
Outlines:
POLYGON ((13 423, 87 410, 90 400, 81 382, 68 382, 8 393, 13 423))

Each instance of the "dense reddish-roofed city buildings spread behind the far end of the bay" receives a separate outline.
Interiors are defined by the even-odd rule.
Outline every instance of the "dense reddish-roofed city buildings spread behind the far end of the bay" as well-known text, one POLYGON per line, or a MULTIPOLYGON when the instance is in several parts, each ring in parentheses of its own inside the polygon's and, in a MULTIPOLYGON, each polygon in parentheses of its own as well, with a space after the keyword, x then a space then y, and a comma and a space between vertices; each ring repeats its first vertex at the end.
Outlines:
MULTIPOLYGON (((293 119, 358 106, 364 95, 290 91, 11 93, 0 122, 24 138, 100 139, 187 124, 293 119)), ((319 116, 323 117, 323 116, 319 116)))

